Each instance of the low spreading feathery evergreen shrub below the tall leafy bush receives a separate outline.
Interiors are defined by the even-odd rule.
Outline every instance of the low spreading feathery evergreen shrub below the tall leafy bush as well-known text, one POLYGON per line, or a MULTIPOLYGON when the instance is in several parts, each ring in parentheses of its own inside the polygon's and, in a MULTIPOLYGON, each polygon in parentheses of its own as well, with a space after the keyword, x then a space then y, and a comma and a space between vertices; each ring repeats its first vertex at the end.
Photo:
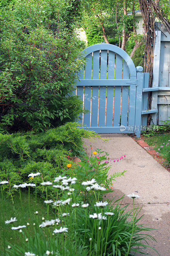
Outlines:
POLYGON ((14 184, 32 181, 27 177, 29 173, 41 172, 41 177, 34 178, 39 192, 43 192, 39 186, 42 180, 50 181, 59 173, 73 174, 74 169, 66 168, 70 162, 68 155, 81 154, 82 137, 98 136, 77 127, 77 123, 67 123, 40 134, 0 134, 0 180, 9 181, 7 193, 12 196, 14 184))

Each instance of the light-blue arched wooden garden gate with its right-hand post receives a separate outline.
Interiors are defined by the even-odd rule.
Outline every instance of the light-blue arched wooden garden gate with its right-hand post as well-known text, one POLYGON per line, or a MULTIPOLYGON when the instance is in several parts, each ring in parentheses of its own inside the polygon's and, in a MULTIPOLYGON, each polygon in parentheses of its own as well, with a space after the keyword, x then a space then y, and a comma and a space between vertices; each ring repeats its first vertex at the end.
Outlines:
POLYGON ((140 137, 142 90, 149 73, 142 73, 129 55, 112 44, 83 50, 85 68, 78 73, 76 94, 89 113, 79 122, 98 133, 135 133, 140 137))

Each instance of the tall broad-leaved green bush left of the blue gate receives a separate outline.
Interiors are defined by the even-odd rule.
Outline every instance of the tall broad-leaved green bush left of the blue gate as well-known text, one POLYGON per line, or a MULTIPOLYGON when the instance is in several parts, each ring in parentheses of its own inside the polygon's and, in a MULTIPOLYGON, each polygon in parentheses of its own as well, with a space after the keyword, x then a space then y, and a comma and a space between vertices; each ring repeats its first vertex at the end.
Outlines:
POLYGON ((1 130, 45 130, 74 121, 82 102, 73 96, 84 65, 74 26, 66 28, 66 4, 15 1, 0 10, 1 130))

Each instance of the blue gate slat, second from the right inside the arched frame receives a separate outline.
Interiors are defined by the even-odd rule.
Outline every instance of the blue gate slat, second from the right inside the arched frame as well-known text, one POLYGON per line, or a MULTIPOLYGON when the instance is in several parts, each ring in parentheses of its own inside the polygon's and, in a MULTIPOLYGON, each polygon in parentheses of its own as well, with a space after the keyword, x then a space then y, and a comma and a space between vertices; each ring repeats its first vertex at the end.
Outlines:
MULTIPOLYGON (((115 79, 122 78, 122 57, 116 54, 115 79)), ((120 126, 121 86, 115 86, 113 126, 120 126)))

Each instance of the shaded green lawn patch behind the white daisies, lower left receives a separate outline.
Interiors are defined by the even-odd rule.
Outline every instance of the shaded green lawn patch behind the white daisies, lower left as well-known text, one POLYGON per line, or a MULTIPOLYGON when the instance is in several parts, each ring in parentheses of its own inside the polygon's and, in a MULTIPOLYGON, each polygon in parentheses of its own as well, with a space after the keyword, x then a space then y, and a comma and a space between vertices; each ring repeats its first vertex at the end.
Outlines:
MULTIPOLYGON (((22 220, 22 211, 21 211, 21 204, 20 204, 20 197, 19 193, 16 193, 13 196, 13 202, 11 200, 11 197, 7 197, 4 193, 4 205, 5 205, 5 220, 10 220, 11 217, 16 217, 18 221, 15 221, 11 224, 5 224, 5 241, 8 243, 12 243, 15 241, 14 238, 14 231, 11 230, 12 226, 19 226, 19 225, 26 225, 27 222, 30 223, 29 226, 29 232, 31 233, 33 231, 33 223, 35 221, 35 211, 38 211, 38 220, 40 223, 42 223, 42 217, 47 219, 47 206, 45 203, 43 203, 43 199, 37 196, 37 204, 35 204, 35 196, 30 195, 30 209, 31 209, 31 215, 29 214, 29 207, 28 207, 28 193, 23 190, 21 190, 22 195, 22 204, 24 208, 24 220, 22 220), (31 225, 32 222, 32 225, 31 225)), ((4 248, 4 242, 3 242, 3 212, 2 212, 2 198, 0 196, 0 250, 3 250, 4 248)), ((49 211, 49 220, 54 219, 54 215, 52 214, 52 211, 49 211)), ((20 244, 19 236, 16 241, 17 244, 20 244)))

